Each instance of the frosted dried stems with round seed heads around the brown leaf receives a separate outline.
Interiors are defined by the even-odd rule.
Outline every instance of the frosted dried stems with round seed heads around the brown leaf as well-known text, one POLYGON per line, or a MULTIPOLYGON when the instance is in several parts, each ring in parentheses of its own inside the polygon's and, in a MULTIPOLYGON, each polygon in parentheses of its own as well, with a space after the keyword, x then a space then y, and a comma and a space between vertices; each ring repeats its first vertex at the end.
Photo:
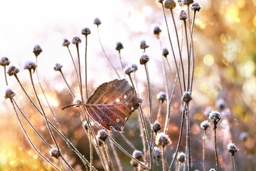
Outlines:
MULTIPOLYGON (((65 135, 63 129, 61 128, 61 124, 58 121, 58 118, 56 114, 53 112, 52 107, 49 104, 48 98, 46 97, 44 93, 44 89, 41 84, 41 80, 38 74, 38 55, 40 55, 42 49, 40 46, 34 47, 34 54, 36 56, 36 63, 33 62, 27 62, 25 65, 25 69, 29 70, 29 77, 31 81, 31 85, 33 88, 34 95, 36 97, 37 102, 34 102, 32 98, 29 96, 27 91, 25 90, 24 86, 22 85, 21 81, 18 78, 17 73, 19 70, 15 66, 9 67, 9 70, 7 73, 11 76, 14 75, 15 79, 17 79, 19 85, 21 86, 23 92, 25 93, 27 99, 31 102, 31 104, 36 108, 37 112, 41 114, 41 116, 44 118, 45 125, 49 131, 50 137, 52 138, 53 145, 50 145, 51 143, 46 141, 44 136, 36 129, 36 127, 31 124, 29 118, 27 118, 26 114, 22 112, 21 108, 19 108, 17 102, 14 100, 15 93, 12 92, 10 89, 6 91, 6 98, 10 99, 11 104, 13 105, 13 109, 15 111, 15 114, 18 118, 19 124, 21 125, 21 128, 27 138, 27 140, 30 142, 31 146, 34 150, 46 161, 48 162, 54 169, 61 170, 60 166, 57 166, 52 161, 49 160, 48 157, 44 156, 37 147, 34 145, 33 141, 31 141, 31 138, 29 134, 26 131, 25 126, 22 124, 20 116, 22 116, 25 121, 29 124, 29 126, 34 130, 34 132, 37 134, 38 137, 44 142, 46 146, 49 147, 50 156, 56 158, 56 160, 60 161, 60 164, 62 166, 62 169, 68 168, 69 170, 74 170, 72 168, 72 165, 69 164, 68 160, 64 157, 64 154, 62 153, 62 149, 65 147, 60 147, 57 136, 61 137, 62 140, 66 142, 68 147, 73 150, 73 152, 81 159, 83 162, 86 170, 97 170, 93 166, 93 152, 96 152, 97 155, 100 158, 101 164, 104 167, 104 170, 123 170, 123 165, 121 164, 121 161, 119 159, 119 156, 117 156, 116 148, 119 148, 125 155, 131 158, 131 165, 134 170, 154 170, 154 168, 160 169, 160 165, 162 165, 162 170, 173 170, 174 164, 176 162, 175 170, 180 170, 182 164, 183 170, 191 170, 192 166, 192 158, 191 158, 191 145, 190 145, 190 101, 192 100, 191 92, 192 92, 192 85, 193 85, 193 76, 194 76, 194 66, 195 66, 195 53, 194 53, 194 45, 192 41, 192 35, 194 30, 194 21, 196 17, 196 13, 200 10, 200 6, 198 3, 193 1, 179 1, 179 5, 181 6, 182 11, 179 13, 179 19, 180 19, 180 25, 182 27, 182 35, 178 34, 178 27, 176 26, 175 16, 174 16, 174 9, 176 7, 176 2, 172 0, 166 0, 166 1, 158 1, 160 5, 162 6, 163 11, 163 17, 164 21, 166 22, 167 27, 167 34, 168 39, 170 42, 171 47, 171 55, 174 59, 174 65, 175 70, 171 70, 171 63, 170 63, 170 57, 169 51, 166 48, 163 48, 162 45, 162 38, 160 36, 160 33, 162 30, 159 27, 155 27, 154 34, 156 35, 157 41, 159 41, 160 44, 160 51, 162 51, 162 64, 163 64, 163 74, 165 79, 165 89, 166 92, 162 92, 158 95, 157 98, 159 98, 159 106, 158 106, 158 112, 157 117, 153 116, 153 109, 152 109, 152 93, 151 93, 151 85, 149 80, 149 73, 148 73, 148 66, 147 62, 149 61, 149 57, 147 54, 145 54, 145 51, 147 47, 149 47, 145 41, 141 42, 140 48, 143 49, 143 54, 140 58, 140 64, 144 65, 145 74, 147 77, 147 85, 148 85, 148 99, 149 99, 149 114, 146 115, 139 106, 138 109, 138 123, 140 127, 140 136, 141 141, 143 144, 143 152, 140 152, 136 149, 136 147, 128 140, 127 137, 125 137, 124 133, 120 132, 121 137, 127 142, 127 144, 134 150, 133 154, 130 154, 125 150, 118 142, 116 142, 113 137, 111 131, 104 128, 104 126, 100 125, 97 122, 94 122, 94 126, 92 125, 92 116, 88 113, 88 108, 86 106, 85 101, 88 100, 88 82, 87 82, 87 46, 88 46, 88 35, 90 34, 90 29, 85 28, 82 29, 82 35, 85 39, 85 75, 82 77, 81 74, 81 57, 80 57, 80 46, 81 39, 79 37, 74 37, 72 43, 76 46, 76 55, 77 55, 77 61, 78 66, 76 65, 76 62, 73 58, 72 52, 69 49, 70 42, 68 39, 64 39, 64 42, 62 43, 63 46, 66 47, 68 50, 68 53, 70 54, 70 57, 73 62, 74 70, 76 71, 76 79, 79 86, 80 93, 76 95, 72 88, 70 88, 69 83, 66 81, 64 74, 62 73, 62 66, 58 63, 56 63, 56 66, 54 67, 54 70, 60 71, 60 74, 62 78, 64 79, 66 86, 68 87, 70 94, 75 99, 74 105, 79 109, 80 116, 81 116, 81 125, 84 128, 84 131, 86 133, 86 136, 89 140, 89 151, 90 151, 90 158, 85 158, 81 152, 79 152, 76 147, 72 144, 72 142, 69 141, 69 138, 65 135), (170 11, 168 11, 170 10, 170 11), (191 16, 192 11, 192 16, 191 16), (168 15, 170 15, 171 23, 168 23, 166 14, 168 12, 168 15), (174 38, 171 38, 171 33, 169 29, 169 25, 174 26, 174 38), (176 41, 178 47, 174 46, 174 41, 176 41), (182 45, 183 41, 186 43, 186 53, 182 53, 182 45), (176 57, 176 54, 179 55, 179 57, 176 57), (183 54, 186 54, 187 57, 184 57, 183 54), (168 66, 168 69, 167 67, 168 66), (34 78, 33 73, 36 71, 36 79, 40 86, 40 90, 37 90, 34 85, 34 78), (170 79, 167 77, 168 73, 171 74, 171 80, 172 80, 172 88, 170 88, 170 79), (85 80, 82 80, 82 78, 85 78, 85 80), (83 84, 84 82, 84 84, 83 84), (85 85, 85 91, 84 87, 85 85), (50 109, 50 113, 52 114, 54 121, 50 121, 48 118, 48 114, 45 112, 45 108, 42 106, 42 102, 40 98, 38 98, 38 91, 41 91, 42 94, 44 94, 45 101, 48 104, 48 108, 50 109), (175 153, 172 157, 171 161, 167 161, 166 158, 166 146, 171 144, 171 140, 168 137, 168 125, 171 118, 171 104, 174 97, 175 91, 180 96, 180 103, 182 104, 182 114, 181 114, 181 124, 180 124, 180 132, 179 132, 179 140, 178 144, 176 145, 175 153), (85 95, 84 95, 85 92, 85 95), (166 108, 167 113, 165 116, 160 115, 162 107, 164 105, 164 102, 167 102, 166 108), (20 115, 21 114, 21 115, 20 115), (149 116, 149 119, 148 119, 149 116), (165 118, 163 118, 165 117, 165 118), (156 118, 156 121, 154 122, 154 118, 156 118), (165 120, 165 124, 163 126, 163 131, 160 132, 161 126, 159 121, 160 118, 163 118, 165 120), (186 142, 184 144, 186 145, 186 151, 185 153, 179 152, 180 145, 182 143, 182 136, 183 136, 183 127, 184 122, 186 122, 186 142), (99 129, 99 132, 96 134, 96 130, 99 129), (57 133, 57 134, 54 134, 57 133), (109 145, 113 152, 113 158, 111 157, 109 153, 109 146, 106 143, 106 139, 109 139, 109 145), (156 146, 158 147, 156 147, 156 146), (93 150, 94 148, 94 150, 93 150), (115 159, 116 164, 112 160, 115 159), (66 166, 65 166, 66 165, 66 166), (116 168, 117 166, 117 168, 116 168)), ((138 88, 137 88, 137 79, 136 79, 136 72, 137 72, 137 66, 131 65, 128 67, 123 66, 122 57, 121 57, 121 49, 123 49, 123 45, 119 42, 117 43, 116 50, 119 52, 119 59, 120 59, 120 70, 124 72, 124 74, 119 74, 118 69, 115 68, 113 65, 111 59, 108 57, 107 53, 104 50, 104 46, 101 43, 100 34, 99 34, 99 26, 101 25, 101 21, 99 18, 96 18, 94 20, 94 24, 97 26, 97 31, 99 35, 99 42, 101 45, 101 49, 104 53, 105 58, 107 58, 109 65, 111 65, 113 71, 115 71, 118 78, 122 77, 128 77, 129 81, 131 82, 131 85, 135 91, 136 96, 140 96, 138 88), (135 81, 135 83, 133 82, 135 81)), ((8 61, 8 60, 7 60, 8 61)), ((10 63, 10 62, 9 62, 10 63)), ((9 65, 7 62, 4 66, 5 69, 5 80, 6 85, 8 85, 7 78, 6 78, 6 66, 9 65)), ((72 106, 72 105, 70 105, 72 106)), ((218 115, 218 112, 214 113, 215 115, 218 115)), ((214 133, 215 133, 215 154, 216 154, 216 169, 218 170, 218 155, 216 151, 216 125, 218 124, 218 121, 220 120, 221 116, 212 116, 212 119, 214 121, 214 133), (218 118, 219 117, 219 118, 218 118)), ((202 127, 202 124, 201 124, 202 127)), ((206 129, 210 127, 210 124, 207 123, 206 125, 203 125, 202 128, 204 128, 204 140, 203 140, 203 170, 205 170, 204 166, 204 144, 205 144, 205 138, 206 138, 206 129)), ((234 158, 234 151, 231 152, 234 158)), ((234 158, 235 161, 235 158, 234 158)), ((235 162, 234 162, 235 164, 235 162)), ((234 167, 236 168, 236 167, 234 167)))

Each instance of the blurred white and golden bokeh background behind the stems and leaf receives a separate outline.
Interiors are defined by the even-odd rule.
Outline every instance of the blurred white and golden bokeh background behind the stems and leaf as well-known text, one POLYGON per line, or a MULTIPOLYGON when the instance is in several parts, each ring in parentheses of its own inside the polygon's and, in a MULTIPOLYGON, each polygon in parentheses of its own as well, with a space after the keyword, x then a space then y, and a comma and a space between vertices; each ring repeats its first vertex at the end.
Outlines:
MULTIPOLYGON (((211 109, 219 110, 219 100, 221 99, 225 102, 225 109, 221 111, 225 117, 218 130, 220 165, 223 170, 232 170, 231 157, 226 152, 226 144, 235 142, 240 149, 237 153, 238 170, 256 170, 254 128, 256 124, 256 1, 198 0, 196 2, 199 2, 202 9, 196 14, 193 35, 196 58, 193 100, 191 102, 193 169, 202 170, 202 153, 199 151, 202 150, 203 130, 200 129, 200 122, 208 118, 207 114, 211 109)), ((179 11, 180 6, 177 5, 174 13, 179 34, 181 34, 178 20, 179 11)), ((171 34, 175 35, 171 24, 171 15, 169 11, 166 12, 171 34)), ((27 70, 23 70, 23 65, 27 60, 36 61, 33 54, 34 45, 42 47, 43 51, 38 57, 38 71, 46 96, 49 98, 64 132, 86 158, 89 158, 88 141, 82 129, 78 110, 74 108, 61 110, 62 106, 72 104, 73 97, 66 88, 60 73, 53 70, 53 66, 57 62, 63 65, 62 71, 65 77, 75 93, 78 94, 72 61, 66 47, 61 45, 64 38, 71 41, 74 36, 81 37, 80 53, 81 57, 84 57, 85 39, 84 35, 81 35, 81 29, 89 27, 92 31, 92 34, 88 36, 89 94, 92 94, 101 83, 117 78, 101 51, 97 27, 93 25, 94 18, 101 19, 102 24, 99 27, 101 41, 119 73, 121 73, 119 54, 115 50, 116 43, 119 41, 124 45, 124 49, 121 50, 124 65, 132 63, 138 65, 136 76, 139 93, 144 99, 143 109, 146 114, 149 113, 147 78, 143 67, 139 66, 139 58, 142 54, 140 41, 144 39, 149 45, 147 49, 150 58, 149 77, 152 82, 153 109, 156 115, 158 108, 156 94, 164 91, 164 77, 161 63, 162 50, 159 41, 153 35, 153 27, 160 26, 163 47, 170 49, 162 10, 158 2, 143 0, 0 1, 0 16, 0 56, 8 57, 11 61, 10 65, 17 66, 21 70, 18 77, 33 97, 29 73, 27 70)), ((177 47, 175 43, 176 39, 174 39, 174 46, 177 47)), ((70 45, 70 50, 76 58, 75 46, 70 45)), ((178 54, 177 48, 175 50, 178 54)), ((174 67, 172 61, 171 66, 174 67)), ((82 71, 84 71, 84 66, 82 71)), ((31 149, 23 136, 9 100, 3 98, 6 90, 3 67, 0 67, 0 80, 0 137, 2 137, 0 140, 0 170, 50 170, 49 165, 31 149)), ((27 101, 15 78, 8 77, 8 81, 10 87, 17 92, 15 99, 23 112, 27 114, 40 132, 45 134, 46 139, 50 140, 44 121, 38 119, 38 113, 27 101)), ((170 85, 172 85, 171 79, 170 85)), ((42 94, 40 98, 42 98, 42 94)), ((169 162, 178 141, 179 101, 178 94, 175 94, 170 128, 168 129, 168 135, 172 140, 172 145, 167 147, 169 162)), ((46 102, 44 105, 46 106, 46 102)), ((166 112, 165 105, 162 116, 166 112)), ((48 109, 46 108, 46 110, 48 109)), ((160 121, 164 124, 164 118, 160 121)), ((33 142, 47 156, 49 150, 42 145, 42 142, 30 129, 28 132, 33 142)), ((213 168, 215 164, 212 133, 211 129, 208 130, 207 169, 213 168)), ((132 114, 125 125, 124 134, 137 149, 142 150, 136 112, 132 114)), ((133 150, 123 142, 120 134, 113 133, 113 136, 128 152, 132 153, 133 150)), ((60 143, 64 146, 64 154, 68 156, 68 160, 73 166, 76 166, 75 170, 84 169, 80 166, 81 161, 65 146, 65 143, 61 140, 60 143)), ((184 148, 184 144, 182 144, 183 152, 184 148)), ((121 161, 124 162, 124 170, 131 170, 129 158, 119 150, 117 152, 121 161)), ((99 170, 103 169, 96 156, 94 165, 99 170)))

